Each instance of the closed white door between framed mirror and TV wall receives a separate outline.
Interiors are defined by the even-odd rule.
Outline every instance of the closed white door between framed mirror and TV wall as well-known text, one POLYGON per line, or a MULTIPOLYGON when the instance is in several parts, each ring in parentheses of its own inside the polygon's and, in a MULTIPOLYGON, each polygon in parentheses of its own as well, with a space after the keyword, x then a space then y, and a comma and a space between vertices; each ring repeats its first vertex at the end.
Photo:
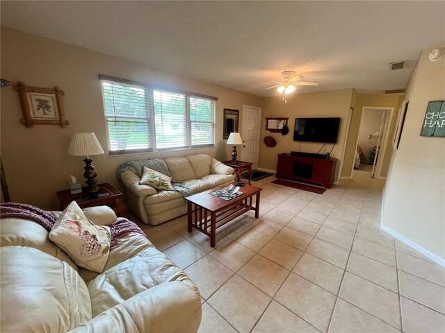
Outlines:
POLYGON ((243 127, 241 130, 243 146, 241 148, 241 160, 253 162, 252 170, 257 169, 258 164, 260 117, 260 108, 253 108, 247 105, 243 106, 243 127))

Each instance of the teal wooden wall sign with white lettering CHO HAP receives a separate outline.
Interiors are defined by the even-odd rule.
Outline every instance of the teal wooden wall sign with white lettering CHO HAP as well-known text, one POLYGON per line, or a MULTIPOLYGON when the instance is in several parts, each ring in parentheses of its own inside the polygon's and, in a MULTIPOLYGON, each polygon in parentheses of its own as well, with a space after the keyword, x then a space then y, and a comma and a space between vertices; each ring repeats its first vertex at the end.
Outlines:
POLYGON ((428 102, 420 135, 445 137, 445 101, 428 102))

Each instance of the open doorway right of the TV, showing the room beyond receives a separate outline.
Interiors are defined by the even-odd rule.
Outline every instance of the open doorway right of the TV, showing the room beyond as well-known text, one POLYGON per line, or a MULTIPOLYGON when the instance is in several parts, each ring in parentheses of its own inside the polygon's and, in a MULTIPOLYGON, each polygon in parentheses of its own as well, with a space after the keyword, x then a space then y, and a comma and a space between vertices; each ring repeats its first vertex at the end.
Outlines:
POLYGON ((394 108, 364 106, 359 123, 352 175, 362 174, 371 178, 382 177, 389 126, 394 108))

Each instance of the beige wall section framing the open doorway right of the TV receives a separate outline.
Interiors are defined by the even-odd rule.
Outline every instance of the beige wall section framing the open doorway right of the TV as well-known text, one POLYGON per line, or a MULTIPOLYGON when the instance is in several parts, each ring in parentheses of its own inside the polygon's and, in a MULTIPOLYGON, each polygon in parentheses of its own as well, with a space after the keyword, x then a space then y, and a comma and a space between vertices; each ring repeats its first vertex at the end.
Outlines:
POLYGON ((364 106, 394 108, 393 117, 391 120, 391 127, 389 128, 387 146, 385 149, 385 158, 382 164, 382 171, 380 172, 380 175, 382 177, 387 176, 387 169, 392 154, 391 141, 392 136, 394 135, 394 127, 397 119, 396 111, 398 110, 398 106, 402 101, 403 96, 393 94, 357 94, 353 114, 350 121, 348 139, 346 140, 346 153, 344 157, 345 159, 343 163, 343 169, 341 170, 341 177, 348 178, 351 176, 355 147, 357 144, 357 136, 359 133, 359 124, 360 119, 362 118, 362 109, 364 106))

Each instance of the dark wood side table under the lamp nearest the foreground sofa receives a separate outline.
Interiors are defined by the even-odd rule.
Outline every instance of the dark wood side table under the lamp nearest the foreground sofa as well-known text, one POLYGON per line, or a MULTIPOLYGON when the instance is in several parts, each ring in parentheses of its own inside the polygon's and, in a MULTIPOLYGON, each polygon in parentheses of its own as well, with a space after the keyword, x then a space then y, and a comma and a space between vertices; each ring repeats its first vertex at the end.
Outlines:
MULTIPOLYGON (((74 200, 81 208, 106 205, 108 207, 113 208, 113 210, 116 212, 116 214, 118 214, 118 216, 123 216, 124 207, 120 203, 120 198, 122 197, 123 194, 114 187, 112 187, 110 184, 108 184, 108 182, 105 182, 104 184, 99 184, 98 186, 100 187, 102 193, 106 192, 109 195, 97 197, 97 196, 90 196, 89 194, 85 194, 84 192, 72 195, 69 189, 65 189, 64 191, 58 191, 57 198, 60 203, 60 210, 65 210, 67 205, 70 205, 72 200, 74 200)), ((82 190, 86 188, 87 187, 82 187, 82 190)))

